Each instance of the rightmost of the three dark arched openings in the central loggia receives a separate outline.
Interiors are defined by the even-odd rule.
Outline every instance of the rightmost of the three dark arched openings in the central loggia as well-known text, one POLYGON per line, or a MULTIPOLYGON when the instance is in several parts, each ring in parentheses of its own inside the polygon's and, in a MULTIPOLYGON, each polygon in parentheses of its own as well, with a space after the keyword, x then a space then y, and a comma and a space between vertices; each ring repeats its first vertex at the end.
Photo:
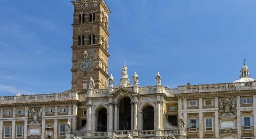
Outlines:
POLYGON ((152 106, 143 109, 143 130, 154 130, 154 107, 152 106))

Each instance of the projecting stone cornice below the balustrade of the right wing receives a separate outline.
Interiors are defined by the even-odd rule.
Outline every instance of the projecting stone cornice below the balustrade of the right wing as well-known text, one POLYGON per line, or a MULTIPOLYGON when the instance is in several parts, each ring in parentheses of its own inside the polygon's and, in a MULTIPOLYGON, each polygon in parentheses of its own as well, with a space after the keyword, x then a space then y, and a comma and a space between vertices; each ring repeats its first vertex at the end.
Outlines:
POLYGON ((222 92, 204 92, 204 93, 175 93, 178 99, 186 98, 209 98, 209 97, 231 97, 256 95, 256 90, 222 91, 222 92))

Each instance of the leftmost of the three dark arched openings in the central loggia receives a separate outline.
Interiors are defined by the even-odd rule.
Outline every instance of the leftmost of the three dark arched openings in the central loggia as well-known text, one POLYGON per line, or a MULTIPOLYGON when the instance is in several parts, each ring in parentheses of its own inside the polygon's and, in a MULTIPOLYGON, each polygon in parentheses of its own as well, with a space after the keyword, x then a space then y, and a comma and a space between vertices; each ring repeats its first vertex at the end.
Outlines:
POLYGON ((106 132, 107 131, 107 109, 101 108, 98 111, 97 118, 97 132, 106 132))

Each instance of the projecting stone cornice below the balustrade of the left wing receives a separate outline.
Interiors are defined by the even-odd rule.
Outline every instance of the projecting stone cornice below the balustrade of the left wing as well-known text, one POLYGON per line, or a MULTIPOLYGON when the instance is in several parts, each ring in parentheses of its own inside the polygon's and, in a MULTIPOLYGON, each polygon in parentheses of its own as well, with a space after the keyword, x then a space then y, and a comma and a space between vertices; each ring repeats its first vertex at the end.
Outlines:
POLYGON ((79 103, 81 103, 79 100, 56 100, 56 101, 4 103, 4 104, 0 104, 0 108, 42 107, 42 106, 74 105, 74 104, 77 105, 79 103))

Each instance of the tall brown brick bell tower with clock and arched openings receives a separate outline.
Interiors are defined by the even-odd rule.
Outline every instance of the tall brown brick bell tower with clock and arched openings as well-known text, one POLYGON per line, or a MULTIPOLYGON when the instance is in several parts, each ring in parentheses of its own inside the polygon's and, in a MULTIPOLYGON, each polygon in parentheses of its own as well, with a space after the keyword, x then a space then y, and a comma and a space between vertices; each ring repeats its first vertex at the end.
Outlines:
POLYGON ((104 0, 73 0, 72 91, 88 89, 90 77, 95 89, 107 88, 108 15, 104 0))

